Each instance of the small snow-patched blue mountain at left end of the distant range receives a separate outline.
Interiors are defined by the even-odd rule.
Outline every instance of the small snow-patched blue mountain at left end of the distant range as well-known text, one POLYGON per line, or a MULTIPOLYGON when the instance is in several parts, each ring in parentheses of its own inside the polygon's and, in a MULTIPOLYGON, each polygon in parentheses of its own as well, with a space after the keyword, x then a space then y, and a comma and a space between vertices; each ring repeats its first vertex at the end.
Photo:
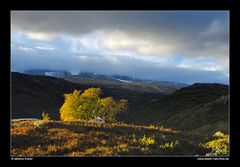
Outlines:
POLYGON ((42 76, 52 76, 52 77, 65 77, 72 75, 68 71, 62 71, 62 70, 26 70, 23 73, 29 74, 29 75, 42 75, 42 76))

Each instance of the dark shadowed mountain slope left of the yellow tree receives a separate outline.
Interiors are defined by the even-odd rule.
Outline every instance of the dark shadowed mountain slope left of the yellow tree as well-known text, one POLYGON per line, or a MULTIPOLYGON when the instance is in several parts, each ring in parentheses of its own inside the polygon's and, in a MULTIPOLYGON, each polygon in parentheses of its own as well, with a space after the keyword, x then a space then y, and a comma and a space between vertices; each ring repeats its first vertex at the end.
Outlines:
POLYGON ((40 118, 43 111, 58 118, 63 94, 80 86, 62 79, 12 72, 12 117, 40 118))

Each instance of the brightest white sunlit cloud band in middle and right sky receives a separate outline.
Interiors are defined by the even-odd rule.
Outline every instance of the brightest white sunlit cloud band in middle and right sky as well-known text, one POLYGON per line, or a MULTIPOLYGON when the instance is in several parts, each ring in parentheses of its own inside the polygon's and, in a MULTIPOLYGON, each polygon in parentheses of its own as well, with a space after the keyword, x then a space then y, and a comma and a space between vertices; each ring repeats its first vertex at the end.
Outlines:
MULTIPOLYGON (((88 52, 110 54, 111 57, 135 57, 141 60, 167 65, 172 64, 183 68, 206 71, 222 70, 228 72, 228 63, 226 61, 228 57, 225 55, 221 57, 223 50, 220 49, 219 51, 219 48, 217 49, 216 47, 210 48, 212 52, 203 49, 197 53, 193 51, 187 53, 184 50, 188 50, 188 47, 191 47, 191 45, 181 48, 181 51, 181 49, 179 49, 180 47, 176 47, 177 45, 174 45, 174 43, 172 43, 172 45, 174 45, 175 48, 171 47, 170 44, 167 45, 167 42, 162 42, 163 45, 161 45, 159 41, 153 42, 147 39, 144 40, 143 38, 135 38, 119 30, 113 32, 96 31, 91 34, 79 36, 78 38, 68 38, 68 40, 71 43, 71 51, 76 53, 88 52), (179 59, 178 53, 185 53, 185 55, 179 59), (191 54, 191 56, 186 56, 188 54, 191 54), (218 59, 216 56, 219 56, 218 59), (222 60, 222 62, 219 60, 222 60), (223 66, 222 64, 226 65, 223 66)), ((223 48, 221 45, 219 47, 223 48)))

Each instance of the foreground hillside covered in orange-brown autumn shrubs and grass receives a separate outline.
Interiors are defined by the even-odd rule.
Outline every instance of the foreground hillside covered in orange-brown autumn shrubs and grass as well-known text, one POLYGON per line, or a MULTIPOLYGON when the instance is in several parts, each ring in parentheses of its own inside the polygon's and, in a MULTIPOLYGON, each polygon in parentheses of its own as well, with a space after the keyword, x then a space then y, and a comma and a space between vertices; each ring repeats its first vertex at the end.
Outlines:
POLYGON ((196 156, 207 135, 157 126, 12 121, 12 156, 196 156))

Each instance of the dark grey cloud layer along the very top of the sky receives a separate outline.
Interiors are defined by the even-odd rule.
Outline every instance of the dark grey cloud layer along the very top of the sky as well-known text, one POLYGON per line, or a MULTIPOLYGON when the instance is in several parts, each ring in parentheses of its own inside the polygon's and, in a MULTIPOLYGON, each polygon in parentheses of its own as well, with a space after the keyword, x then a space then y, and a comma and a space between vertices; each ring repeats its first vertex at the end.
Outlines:
POLYGON ((12 25, 21 30, 79 34, 108 28, 192 32, 206 27, 213 19, 221 18, 226 23, 228 16, 226 12, 13 11, 11 18, 12 25))

